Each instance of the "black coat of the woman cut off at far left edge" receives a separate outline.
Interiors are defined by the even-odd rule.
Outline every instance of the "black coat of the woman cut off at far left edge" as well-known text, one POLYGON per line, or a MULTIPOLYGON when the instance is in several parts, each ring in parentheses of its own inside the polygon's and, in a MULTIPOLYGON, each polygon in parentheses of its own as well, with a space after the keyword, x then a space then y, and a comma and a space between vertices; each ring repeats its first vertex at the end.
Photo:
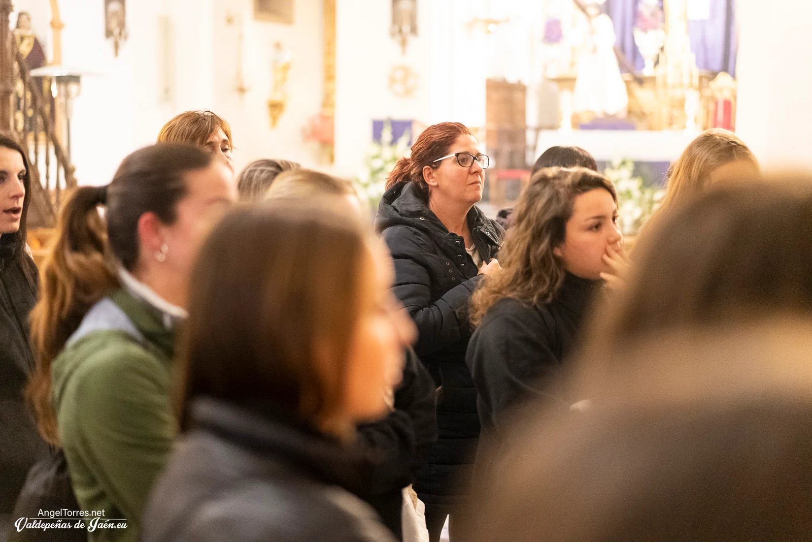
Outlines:
POLYGON ((0 514, 11 514, 28 469, 48 454, 23 390, 34 367, 28 314, 37 268, 16 240, 0 237, 0 514))

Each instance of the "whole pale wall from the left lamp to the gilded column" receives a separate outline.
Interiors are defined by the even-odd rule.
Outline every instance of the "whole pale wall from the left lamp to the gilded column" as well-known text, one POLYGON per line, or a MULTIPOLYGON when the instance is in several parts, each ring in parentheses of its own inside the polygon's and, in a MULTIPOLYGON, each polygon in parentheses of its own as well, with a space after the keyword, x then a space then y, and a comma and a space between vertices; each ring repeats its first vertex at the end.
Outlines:
POLYGON ((294 25, 253 20, 252 0, 137 0, 127 2, 129 38, 114 57, 104 37, 102 2, 59 0, 65 24, 63 64, 83 77, 72 125, 73 162, 80 184, 105 184, 121 160, 155 141, 168 119, 181 111, 209 109, 232 126, 235 164, 279 157, 316 165, 317 154, 301 129, 322 103, 322 0, 296 0, 294 25), (235 91, 238 28, 244 21, 244 66, 250 92, 235 91), (159 18, 171 25, 164 46, 159 18), (293 53, 287 111, 270 129, 270 54, 275 41, 293 53), (174 50, 174 52, 172 51, 174 50), (163 92, 166 54, 174 54, 163 92))

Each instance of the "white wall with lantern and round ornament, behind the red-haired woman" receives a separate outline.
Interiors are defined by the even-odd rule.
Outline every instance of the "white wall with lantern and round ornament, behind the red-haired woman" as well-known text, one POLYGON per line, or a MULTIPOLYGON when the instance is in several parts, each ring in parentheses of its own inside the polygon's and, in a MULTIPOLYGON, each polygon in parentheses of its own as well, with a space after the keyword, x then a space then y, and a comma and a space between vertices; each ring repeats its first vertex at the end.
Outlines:
MULTIPOLYGON (((338 0, 336 170, 353 176, 362 167, 373 119, 424 125, 453 120, 484 128, 486 79, 527 85, 539 79, 533 44, 543 31, 541 12, 536 0, 418 0, 418 36, 402 55, 389 36, 391 0, 338 0), (477 16, 509 22, 489 34, 469 25, 477 16), (419 75, 411 98, 388 88, 396 64, 419 75)), ((535 107, 528 115, 534 118, 535 107)))

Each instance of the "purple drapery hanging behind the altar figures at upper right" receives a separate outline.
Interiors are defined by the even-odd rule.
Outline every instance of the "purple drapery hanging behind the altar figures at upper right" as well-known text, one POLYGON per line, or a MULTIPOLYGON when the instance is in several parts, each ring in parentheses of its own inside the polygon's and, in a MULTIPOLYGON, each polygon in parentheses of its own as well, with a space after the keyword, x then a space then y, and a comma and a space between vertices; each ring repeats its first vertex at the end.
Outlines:
MULTIPOLYGON (((634 21, 640 0, 607 0, 604 11, 615 25, 617 46, 629 63, 640 71, 643 59, 634 43, 634 21)), ((728 72, 736 76, 735 0, 711 0, 709 20, 689 21, 691 50, 697 55, 697 66, 708 72, 728 72)))

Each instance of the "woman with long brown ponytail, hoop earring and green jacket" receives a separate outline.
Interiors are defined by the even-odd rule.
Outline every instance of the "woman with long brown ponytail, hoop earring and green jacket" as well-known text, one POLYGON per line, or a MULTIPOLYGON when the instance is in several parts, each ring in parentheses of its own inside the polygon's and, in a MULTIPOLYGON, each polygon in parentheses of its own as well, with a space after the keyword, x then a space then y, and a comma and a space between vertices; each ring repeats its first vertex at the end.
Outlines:
POLYGON ((175 326, 197 249, 235 197, 230 172, 209 154, 159 144, 124 158, 108 186, 76 189, 60 212, 32 313, 39 356, 29 392, 81 508, 127 521, 116 540, 138 540, 175 440, 175 326))

